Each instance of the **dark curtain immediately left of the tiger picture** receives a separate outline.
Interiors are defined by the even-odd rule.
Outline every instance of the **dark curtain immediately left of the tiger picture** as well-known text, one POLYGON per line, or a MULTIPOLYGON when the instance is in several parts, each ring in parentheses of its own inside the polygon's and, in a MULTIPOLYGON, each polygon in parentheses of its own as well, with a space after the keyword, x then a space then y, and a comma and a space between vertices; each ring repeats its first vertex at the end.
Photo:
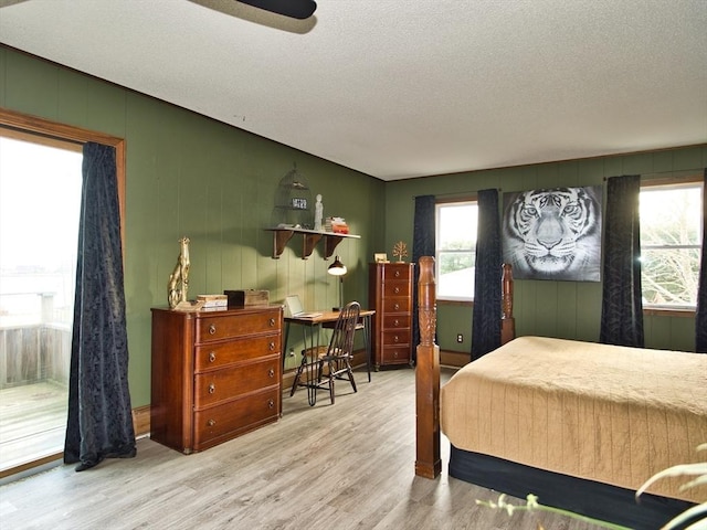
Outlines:
POLYGON ((472 359, 500 346, 502 262, 498 190, 482 190, 478 192, 472 359))

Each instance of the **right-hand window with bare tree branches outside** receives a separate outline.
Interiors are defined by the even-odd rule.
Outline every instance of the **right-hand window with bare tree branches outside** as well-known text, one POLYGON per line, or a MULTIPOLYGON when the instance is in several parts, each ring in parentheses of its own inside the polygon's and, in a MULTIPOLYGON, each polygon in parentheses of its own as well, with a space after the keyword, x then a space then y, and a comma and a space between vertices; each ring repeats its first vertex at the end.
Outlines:
POLYGON ((641 282, 646 307, 697 305, 703 187, 689 182, 641 188, 641 282))

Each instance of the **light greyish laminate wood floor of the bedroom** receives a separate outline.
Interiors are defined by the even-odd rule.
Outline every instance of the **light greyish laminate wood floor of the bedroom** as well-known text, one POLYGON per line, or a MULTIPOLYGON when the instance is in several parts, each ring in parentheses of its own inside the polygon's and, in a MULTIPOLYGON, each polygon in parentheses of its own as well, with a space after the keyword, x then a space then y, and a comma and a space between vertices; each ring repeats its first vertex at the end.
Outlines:
MULTIPOLYGON (((550 513, 476 506, 497 494, 450 478, 415 477, 414 371, 381 371, 359 392, 337 388, 314 407, 284 393, 279 422, 203 453, 149 438, 138 454, 75 473, 60 466, 0 487, 10 529, 536 529, 598 527, 550 513)), ((444 371, 443 380, 451 371, 444 371)))

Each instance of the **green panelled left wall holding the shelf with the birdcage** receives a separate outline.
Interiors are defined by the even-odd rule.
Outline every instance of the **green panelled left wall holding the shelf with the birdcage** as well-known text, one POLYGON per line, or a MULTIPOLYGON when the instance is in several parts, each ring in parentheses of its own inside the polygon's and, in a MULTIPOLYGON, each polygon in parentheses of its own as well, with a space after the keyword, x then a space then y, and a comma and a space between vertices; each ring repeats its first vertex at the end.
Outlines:
MULTIPOLYGON (((368 298, 368 262, 382 242, 384 186, 378 179, 0 46, 0 106, 126 139, 125 292, 133 406, 150 400, 150 307, 167 305, 167 279, 190 244, 190 297, 223 289, 297 293, 308 307, 338 303, 321 243, 302 259, 302 240, 271 257, 279 180, 296 162, 325 215, 351 233, 336 250, 348 266, 345 296, 368 298), (299 243, 299 244, 298 244, 299 243)), ((298 348, 297 348, 298 349, 298 348)))

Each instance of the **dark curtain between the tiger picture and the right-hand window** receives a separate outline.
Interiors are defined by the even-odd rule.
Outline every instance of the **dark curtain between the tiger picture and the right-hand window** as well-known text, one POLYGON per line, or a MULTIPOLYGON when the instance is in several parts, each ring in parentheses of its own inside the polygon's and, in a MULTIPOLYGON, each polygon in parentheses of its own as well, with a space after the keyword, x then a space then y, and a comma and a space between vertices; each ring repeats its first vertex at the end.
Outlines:
POLYGON ((643 348, 637 174, 606 182, 604 267, 599 341, 643 348))

